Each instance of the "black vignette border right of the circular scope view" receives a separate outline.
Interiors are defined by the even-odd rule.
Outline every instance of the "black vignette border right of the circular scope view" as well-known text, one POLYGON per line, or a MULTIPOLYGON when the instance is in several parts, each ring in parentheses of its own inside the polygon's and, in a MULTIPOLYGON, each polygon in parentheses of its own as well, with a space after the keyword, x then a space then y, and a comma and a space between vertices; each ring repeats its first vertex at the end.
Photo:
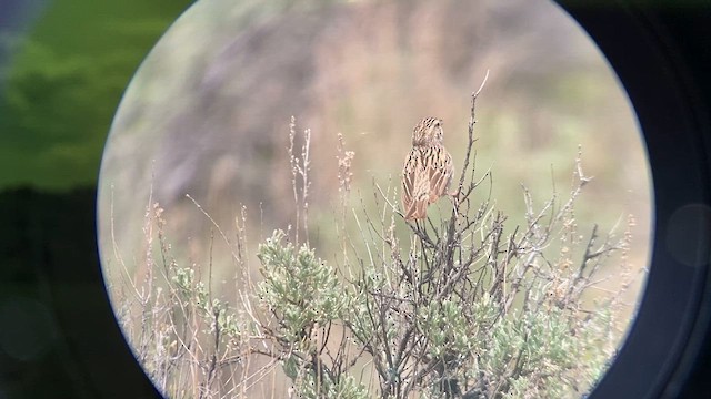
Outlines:
POLYGON ((654 241, 638 318, 591 398, 711 391, 711 2, 558 1, 628 91, 653 181, 654 241))

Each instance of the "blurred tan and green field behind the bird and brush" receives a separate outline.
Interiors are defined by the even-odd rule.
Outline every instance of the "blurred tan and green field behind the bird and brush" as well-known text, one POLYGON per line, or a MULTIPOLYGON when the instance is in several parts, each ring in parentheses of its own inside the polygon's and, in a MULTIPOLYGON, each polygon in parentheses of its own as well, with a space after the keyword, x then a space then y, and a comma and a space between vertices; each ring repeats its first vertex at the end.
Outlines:
MULTIPOLYGON (((444 143, 462 163, 470 95, 487 70, 475 162, 479 174, 491 170, 491 196, 510 226, 524 222, 522 184, 538 206, 553 191, 567 196, 580 145, 583 172, 594 176, 578 201, 580 232, 619 223, 621 233, 633 214, 630 260, 645 268, 650 176, 634 114, 599 50, 553 3, 213 0, 173 24, 117 112, 99 193, 109 285, 141 280, 150 197, 166 209, 177 262, 207 265, 212 247, 213 288, 232 296, 229 249, 210 244, 212 222, 186 194, 228 237, 244 206, 252 246, 293 225, 292 115, 312 134, 311 244, 333 257, 337 133, 356 152, 353 200, 371 206, 373 181, 399 185, 424 116, 444 120, 444 143)), ((489 195, 482 187, 479 198, 489 195)))

